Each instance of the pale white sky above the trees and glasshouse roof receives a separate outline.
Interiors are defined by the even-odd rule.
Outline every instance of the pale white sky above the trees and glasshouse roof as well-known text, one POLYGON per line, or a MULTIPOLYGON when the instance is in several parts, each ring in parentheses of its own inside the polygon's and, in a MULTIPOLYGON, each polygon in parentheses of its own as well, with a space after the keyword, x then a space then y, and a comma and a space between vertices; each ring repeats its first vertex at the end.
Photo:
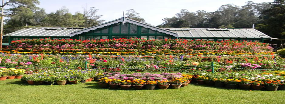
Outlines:
POLYGON ((204 10, 216 11, 221 5, 234 4, 243 6, 248 1, 273 2, 273 0, 39 0, 38 7, 44 8, 47 13, 55 12, 63 6, 69 12, 83 12, 83 8, 95 7, 99 9, 97 15, 103 15, 102 20, 112 21, 122 17, 123 11, 134 9, 139 16, 149 24, 157 26, 162 24, 163 18, 173 17, 181 9, 194 12, 204 10))

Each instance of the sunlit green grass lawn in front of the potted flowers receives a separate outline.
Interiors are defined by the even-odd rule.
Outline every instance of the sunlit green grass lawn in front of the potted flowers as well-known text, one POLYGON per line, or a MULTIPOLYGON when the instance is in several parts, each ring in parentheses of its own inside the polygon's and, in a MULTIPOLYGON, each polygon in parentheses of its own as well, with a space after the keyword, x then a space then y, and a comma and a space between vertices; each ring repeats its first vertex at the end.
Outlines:
POLYGON ((180 89, 103 89, 97 82, 75 85, 28 85, 0 81, 1 104, 284 104, 285 91, 249 91, 190 84, 180 89))

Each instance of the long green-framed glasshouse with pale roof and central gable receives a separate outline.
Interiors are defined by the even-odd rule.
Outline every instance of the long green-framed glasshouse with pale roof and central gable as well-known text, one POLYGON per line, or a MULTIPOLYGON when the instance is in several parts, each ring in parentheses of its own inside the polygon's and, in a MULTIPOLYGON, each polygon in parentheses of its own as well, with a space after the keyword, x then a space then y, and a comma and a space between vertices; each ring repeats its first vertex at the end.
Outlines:
POLYGON ((129 18, 119 18, 89 28, 23 28, 4 35, 3 43, 22 39, 198 39, 198 40, 270 40, 271 37, 254 28, 158 28, 129 18))

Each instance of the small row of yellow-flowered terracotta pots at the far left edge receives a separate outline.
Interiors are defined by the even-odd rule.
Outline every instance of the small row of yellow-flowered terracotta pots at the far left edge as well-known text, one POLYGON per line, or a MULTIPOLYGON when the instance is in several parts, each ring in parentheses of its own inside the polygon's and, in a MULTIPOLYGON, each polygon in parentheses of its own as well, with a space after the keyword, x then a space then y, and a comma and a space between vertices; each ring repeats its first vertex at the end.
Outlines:
POLYGON ((15 69, 15 68, 0 68, 0 81, 6 79, 21 79, 25 74, 26 70, 24 69, 15 69))

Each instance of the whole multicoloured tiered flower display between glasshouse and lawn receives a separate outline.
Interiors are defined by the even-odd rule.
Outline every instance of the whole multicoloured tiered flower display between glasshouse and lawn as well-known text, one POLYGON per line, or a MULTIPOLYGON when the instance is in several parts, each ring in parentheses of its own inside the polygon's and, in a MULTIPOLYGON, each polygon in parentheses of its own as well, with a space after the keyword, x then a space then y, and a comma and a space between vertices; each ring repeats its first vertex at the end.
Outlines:
POLYGON ((284 58, 260 42, 47 38, 12 41, 1 52, 0 80, 26 86, 285 90, 284 58))

